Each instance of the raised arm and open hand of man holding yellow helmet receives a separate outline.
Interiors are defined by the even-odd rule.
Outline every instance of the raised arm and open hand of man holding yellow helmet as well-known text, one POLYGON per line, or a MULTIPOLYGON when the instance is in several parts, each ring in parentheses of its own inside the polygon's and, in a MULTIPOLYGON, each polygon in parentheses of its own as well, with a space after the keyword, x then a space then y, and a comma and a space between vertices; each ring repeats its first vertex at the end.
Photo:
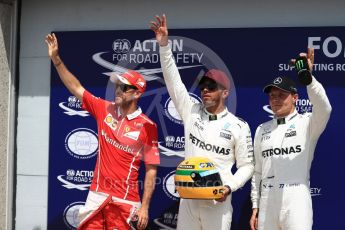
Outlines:
POLYGON ((190 114, 193 102, 181 80, 172 51, 168 46, 168 27, 164 14, 162 17, 157 15, 156 21, 151 21, 151 30, 155 32, 157 42, 160 46, 160 61, 166 87, 178 113, 182 117, 182 120, 185 121, 186 117, 190 114))

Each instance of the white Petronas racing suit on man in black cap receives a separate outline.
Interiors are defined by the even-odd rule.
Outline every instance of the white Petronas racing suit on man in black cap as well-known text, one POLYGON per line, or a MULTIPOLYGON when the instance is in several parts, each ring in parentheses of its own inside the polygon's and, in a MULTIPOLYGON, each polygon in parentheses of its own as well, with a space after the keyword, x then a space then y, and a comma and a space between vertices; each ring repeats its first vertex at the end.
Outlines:
POLYGON ((253 208, 259 208, 259 230, 312 229, 309 172, 332 108, 314 77, 307 92, 312 113, 295 111, 280 119, 283 124, 274 118, 256 130, 251 199, 253 208))

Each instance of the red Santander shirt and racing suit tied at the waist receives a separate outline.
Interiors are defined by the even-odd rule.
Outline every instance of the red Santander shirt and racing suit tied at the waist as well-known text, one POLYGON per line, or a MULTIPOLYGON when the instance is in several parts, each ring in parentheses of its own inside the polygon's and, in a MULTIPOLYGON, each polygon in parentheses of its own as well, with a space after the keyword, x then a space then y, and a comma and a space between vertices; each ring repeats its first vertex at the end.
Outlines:
POLYGON ((123 117, 114 103, 88 91, 83 94, 83 108, 97 121, 99 153, 86 204, 79 211, 79 229, 90 225, 90 220, 95 222, 94 226, 103 229, 103 219, 108 221, 106 225, 111 229, 129 228, 130 214, 140 207, 140 162, 160 163, 157 126, 140 108, 123 117), (107 218, 103 218, 104 213, 112 215, 116 210, 122 216, 106 215, 107 218))

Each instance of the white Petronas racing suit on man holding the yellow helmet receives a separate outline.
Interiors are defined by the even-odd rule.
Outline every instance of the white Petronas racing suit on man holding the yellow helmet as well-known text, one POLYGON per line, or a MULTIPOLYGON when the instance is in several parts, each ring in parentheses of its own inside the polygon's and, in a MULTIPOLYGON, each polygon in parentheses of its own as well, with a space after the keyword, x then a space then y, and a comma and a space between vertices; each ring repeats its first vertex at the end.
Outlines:
MULTIPOLYGON (((160 47, 165 83, 184 123, 185 157, 201 156, 212 160, 223 185, 234 192, 248 181, 254 170, 253 146, 249 126, 225 109, 210 120, 203 104, 194 103, 173 59, 169 46, 160 47), (231 168, 236 162, 237 171, 231 168)), ((229 230, 231 195, 223 203, 214 200, 181 199, 177 229, 229 230)))

